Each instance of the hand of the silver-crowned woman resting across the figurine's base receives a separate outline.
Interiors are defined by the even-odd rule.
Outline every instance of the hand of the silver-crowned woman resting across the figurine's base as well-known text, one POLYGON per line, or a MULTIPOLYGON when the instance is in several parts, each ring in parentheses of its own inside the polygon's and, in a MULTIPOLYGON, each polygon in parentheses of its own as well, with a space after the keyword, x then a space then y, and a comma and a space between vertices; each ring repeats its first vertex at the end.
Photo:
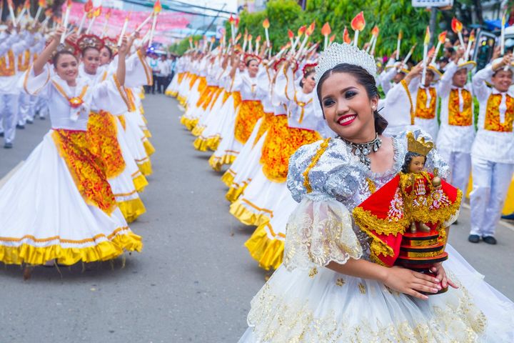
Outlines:
MULTIPOLYGON (((440 269, 443 268, 440 267, 440 269)), ((420 292, 434 294, 439 292, 441 289, 440 280, 440 277, 430 277, 410 269, 395 266, 388 269, 383 283, 395 291, 426 300, 428 297, 420 292)))

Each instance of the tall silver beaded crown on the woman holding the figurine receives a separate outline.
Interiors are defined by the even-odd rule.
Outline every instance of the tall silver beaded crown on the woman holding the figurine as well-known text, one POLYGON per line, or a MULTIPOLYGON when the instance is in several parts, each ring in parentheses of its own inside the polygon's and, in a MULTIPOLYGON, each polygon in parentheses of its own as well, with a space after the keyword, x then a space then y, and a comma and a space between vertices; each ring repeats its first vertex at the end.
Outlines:
POLYGON ((351 44, 333 43, 319 57, 318 66, 316 66, 316 79, 321 79, 326 71, 342 63, 361 66, 371 76, 376 77, 376 64, 373 56, 351 44))

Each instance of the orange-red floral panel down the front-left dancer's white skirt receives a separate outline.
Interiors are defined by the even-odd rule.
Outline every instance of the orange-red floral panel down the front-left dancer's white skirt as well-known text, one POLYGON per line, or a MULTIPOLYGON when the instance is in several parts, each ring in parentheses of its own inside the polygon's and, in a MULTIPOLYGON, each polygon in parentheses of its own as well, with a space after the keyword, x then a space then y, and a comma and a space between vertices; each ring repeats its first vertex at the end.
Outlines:
POLYGON ((116 199, 102 161, 89 149, 87 132, 55 129, 52 138, 86 204, 111 214, 116 209, 116 199))

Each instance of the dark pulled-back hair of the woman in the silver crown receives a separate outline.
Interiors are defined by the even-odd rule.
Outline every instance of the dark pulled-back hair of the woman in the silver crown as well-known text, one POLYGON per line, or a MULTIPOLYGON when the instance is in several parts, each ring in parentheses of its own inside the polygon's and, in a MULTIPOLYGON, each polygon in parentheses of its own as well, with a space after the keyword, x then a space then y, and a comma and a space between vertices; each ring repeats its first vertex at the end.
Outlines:
MULTIPOLYGON (((320 101, 321 109, 323 109, 323 104, 321 103, 321 85, 323 85, 323 82, 328 79, 328 76, 331 76, 334 73, 348 73, 355 76, 357 79, 358 84, 364 87, 366 89, 366 93, 368 93, 368 98, 374 98, 375 96, 380 98, 380 95, 378 94, 378 89, 376 86, 376 81, 371 74, 366 71, 366 69, 363 69, 361 66, 356 66, 354 64, 348 64, 348 63, 342 63, 335 66, 333 69, 328 70, 321 76, 321 79, 318 81, 318 89, 316 89, 318 93, 318 99, 320 101)), ((375 131, 378 134, 382 134, 385 128, 388 126, 388 121, 385 120, 381 114, 378 113, 378 110, 373 111, 373 116, 375 117, 375 131)), ((325 117, 325 114, 323 114, 323 117, 325 117)))

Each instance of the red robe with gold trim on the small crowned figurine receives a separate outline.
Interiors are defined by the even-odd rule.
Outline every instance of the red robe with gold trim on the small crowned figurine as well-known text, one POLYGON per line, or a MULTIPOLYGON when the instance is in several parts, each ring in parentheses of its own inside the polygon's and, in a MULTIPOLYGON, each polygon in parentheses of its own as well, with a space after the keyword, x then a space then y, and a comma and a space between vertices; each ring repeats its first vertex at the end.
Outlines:
POLYGON ((411 222, 441 228, 458 213, 462 192, 441 180, 432 185, 433 175, 398 173, 377 192, 353 209, 356 224, 371 238, 373 261, 392 267, 400 254, 403 233, 411 222), (411 175, 414 175, 412 177, 411 175))

